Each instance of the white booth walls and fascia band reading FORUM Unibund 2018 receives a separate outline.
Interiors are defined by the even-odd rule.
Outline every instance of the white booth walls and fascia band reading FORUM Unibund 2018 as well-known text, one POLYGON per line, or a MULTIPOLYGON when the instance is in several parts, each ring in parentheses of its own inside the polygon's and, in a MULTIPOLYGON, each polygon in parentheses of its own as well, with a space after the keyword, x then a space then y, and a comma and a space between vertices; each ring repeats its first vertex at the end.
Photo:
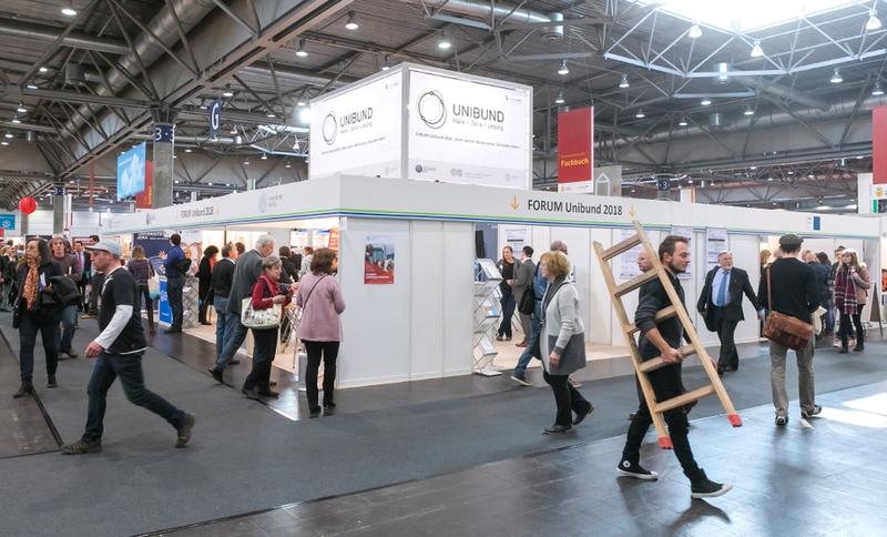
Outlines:
MULTIPOLYGON (((592 349, 622 345, 592 242, 620 242, 634 220, 654 242, 669 233, 692 235, 693 263, 682 283, 697 326, 704 323, 695 315, 695 300, 713 254, 716 259, 724 249, 733 251, 736 266, 748 271, 753 282, 759 274, 762 242, 786 232, 802 235, 804 247, 816 251, 855 247, 873 274, 880 272, 881 222, 875 217, 349 175, 115 214, 103 235, 129 241, 132 233, 152 230, 251 230, 283 240, 316 219, 335 219, 339 230, 337 277, 347 304, 338 372, 343 387, 472 372, 477 224, 497 224, 503 239, 508 230, 522 227, 540 252, 553 240, 569 245, 592 349), (368 245, 374 255, 383 251, 392 262, 389 275, 380 277, 377 264, 367 262, 368 245)), ((613 263, 621 281, 636 275, 632 252, 613 263)), ((630 300, 625 302, 631 310, 630 300)), ((757 338, 747 302, 745 308, 737 342, 757 338)), ((702 336, 716 344, 714 334, 702 331, 702 336)), ((630 371, 625 353, 618 349, 604 356, 593 352, 590 358, 594 376, 630 371)))

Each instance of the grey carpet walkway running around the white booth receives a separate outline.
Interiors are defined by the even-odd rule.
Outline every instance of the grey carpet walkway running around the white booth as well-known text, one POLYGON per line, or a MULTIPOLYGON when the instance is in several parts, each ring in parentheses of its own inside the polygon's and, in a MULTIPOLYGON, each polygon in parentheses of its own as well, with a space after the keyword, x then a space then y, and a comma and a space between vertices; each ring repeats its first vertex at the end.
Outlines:
MULTIPOLYGON (((0 330, 17 352, 8 316, 0 317, 0 330)), ((85 347, 95 332, 84 323, 77 348, 85 347)), ((884 349, 873 344, 864 356, 820 353, 819 391, 887 378, 884 349)), ((750 352, 761 349, 754 345, 750 352)), ((40 372, 39 354, 37 362, 40 372)), ((598 409, 574 434, 558 438, 540 434, 553 419, 547 388, 292 422, 154 349, 145 354, 144 369, 149 387, 197 416, 192 445, 174 449, 173 429, 126 403, 115 385, 103 454, 0 460, 0 505, 16 514, 3 517, 4 533, 129 535, 421 479, 624 434, 626 414, 636 406, 631 378, 587 383, 581 391, 598 409)), ((85 359, 63 362, 60 387, 41 389, 65 440, 82 432, 90 371, 85 359)), ((686 377, 689 387, 702 382, 699 369, 686 377)), ((744 361, 726 382, 737 408, 769 401, 763 358, 744 361)), ((794 384, 789 377, 789 388, 794 384)), ((707 399, 694 417, 718 412, 715 401, 707 399)), ((723 426, 728 427, 725 418, 723 426)))

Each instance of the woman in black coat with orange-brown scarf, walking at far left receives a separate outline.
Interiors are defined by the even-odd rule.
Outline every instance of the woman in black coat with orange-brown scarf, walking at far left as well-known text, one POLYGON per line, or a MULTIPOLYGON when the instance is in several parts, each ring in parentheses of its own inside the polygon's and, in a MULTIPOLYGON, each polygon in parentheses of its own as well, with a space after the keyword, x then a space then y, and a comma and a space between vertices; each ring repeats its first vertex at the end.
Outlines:
POLYGON ((14 398, 24 397, 34 391, 34 345, 39 332, 47 353, 47 387, 54 388, 55 369, 59 366, 59 348, 55 332, 61 322, 61 305, 49 305, 41 300, 49 292, 50 278, 61 276, 59 263, 52 261, 49 244, 42 239, 31 239, 24 247, 24 263, 19 266, 18 298, 13 306, 13 327, 19 328, 19 368, 21 387, 14 398))

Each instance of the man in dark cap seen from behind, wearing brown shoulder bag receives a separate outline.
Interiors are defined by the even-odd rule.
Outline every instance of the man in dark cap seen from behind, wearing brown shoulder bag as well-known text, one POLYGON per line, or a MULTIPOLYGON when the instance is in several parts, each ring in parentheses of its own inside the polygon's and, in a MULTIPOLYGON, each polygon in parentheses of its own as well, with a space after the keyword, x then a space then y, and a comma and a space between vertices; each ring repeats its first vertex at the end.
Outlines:
MULTIPOLYGON (((761 277, 757 296, 771 312, 779 312, 805 323, 813 324, 812 314, 819 307, 819 291, 816 287, 816 274, 813 268, 797 259, 802 240, 789 233, 779 237, 783 257, 776 260, 761 277), (767 274, 769 273, 769 283, 767 274), (772 288, 771 288, 772 287, 772 288), (769 295, 767 294, 769 291, 769 295)), ((808 419, 823 411, 816 404, 813 379, 814 338, 797 356, 797 385, 801 398, 801 417, 808 419)), ((776 342, 769 342, 771 387, 773 406, 776 409, 776 425, 788 423, 788 395, 785 393, 785 356, 788 348, 776 342)))

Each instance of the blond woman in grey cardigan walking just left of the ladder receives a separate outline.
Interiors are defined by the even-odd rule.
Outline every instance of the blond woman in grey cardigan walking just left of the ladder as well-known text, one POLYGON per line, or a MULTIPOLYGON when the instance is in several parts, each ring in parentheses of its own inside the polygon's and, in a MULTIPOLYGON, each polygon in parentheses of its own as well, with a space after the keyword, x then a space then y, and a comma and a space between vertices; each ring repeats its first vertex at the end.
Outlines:
POLYGON ((594 405, 569 383, 571 373, 585 367, 585 328, 579 308, 579 293, 567 280, 570 260, 563 252, 547 252, 539 260, 539 271, 548 280, 542 297, 539 351, 542 376, 554 393, 558 415, 547 435, 560 435, 579 425, 594 411, 594 405), (575 413, 573 419, 572 413, 575 413))

